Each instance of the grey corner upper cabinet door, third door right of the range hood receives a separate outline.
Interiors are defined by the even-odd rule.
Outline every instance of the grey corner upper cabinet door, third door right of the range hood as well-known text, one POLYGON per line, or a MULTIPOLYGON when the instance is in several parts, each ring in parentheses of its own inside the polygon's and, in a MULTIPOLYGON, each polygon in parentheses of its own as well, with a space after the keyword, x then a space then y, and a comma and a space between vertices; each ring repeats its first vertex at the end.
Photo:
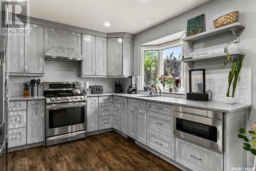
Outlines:
POLYGON ((122 75, 122 38, 108 38, 108 75, 122 75))

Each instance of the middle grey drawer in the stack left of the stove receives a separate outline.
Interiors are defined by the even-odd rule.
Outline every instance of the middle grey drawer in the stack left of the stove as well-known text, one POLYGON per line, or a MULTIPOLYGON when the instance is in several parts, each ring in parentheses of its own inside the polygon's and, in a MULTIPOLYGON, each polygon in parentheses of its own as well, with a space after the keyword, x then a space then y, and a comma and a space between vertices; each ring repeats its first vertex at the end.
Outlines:
POLYGON ((27 111, 11 111, 8 117, 8 129, 26 127, 27 111))

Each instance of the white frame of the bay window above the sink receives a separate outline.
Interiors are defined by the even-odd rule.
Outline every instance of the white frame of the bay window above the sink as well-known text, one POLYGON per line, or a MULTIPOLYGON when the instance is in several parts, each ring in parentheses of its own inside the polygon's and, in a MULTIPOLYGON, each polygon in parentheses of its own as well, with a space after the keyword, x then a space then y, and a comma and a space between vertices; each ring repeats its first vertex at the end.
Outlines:
MULTIPOLYGON (((163 44, 160 46, 141 46, 141 79, 140 79, 140 85, 139 85, 139 90, 143 90, 143 84, 144 84, 144 54, 145 51, 158 51, 158 70, 157 70, 157 75, 163 75, 163 56, 162 56, 162 51, 168 48, 174 48, 177 46, 184 46, 184 44, 180 41, 173 41, 169 42, 167 44, 163 44)), ((182 59, 184 58, 184 47, 181 48, 181 54, 182 54, 182 59)), ((179 93, 184 93, 185 92, 185 63, 184 61, 181 61, 181 92, 179 93)), ((168 92, 165 92, 168 93, 168 92)))

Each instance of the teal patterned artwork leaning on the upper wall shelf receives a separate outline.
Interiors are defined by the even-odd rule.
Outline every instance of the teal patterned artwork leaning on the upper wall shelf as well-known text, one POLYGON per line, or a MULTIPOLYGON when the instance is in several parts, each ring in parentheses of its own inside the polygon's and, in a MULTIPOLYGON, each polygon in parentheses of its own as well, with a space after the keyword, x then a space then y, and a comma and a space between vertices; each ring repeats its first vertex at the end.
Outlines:
POLYGON ((204 14, 187 20, 187 37, 204 32, 204 14))

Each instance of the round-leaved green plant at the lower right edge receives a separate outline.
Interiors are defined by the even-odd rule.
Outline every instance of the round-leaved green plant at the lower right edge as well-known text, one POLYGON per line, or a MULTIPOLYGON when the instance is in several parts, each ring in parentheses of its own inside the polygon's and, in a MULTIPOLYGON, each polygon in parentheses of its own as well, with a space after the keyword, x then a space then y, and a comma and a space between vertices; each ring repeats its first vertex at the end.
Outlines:
POLYGON ((246 131, 243 127, 240 128, 238 138, 241 138, 244 140, 244 143, 243 143, 244 150, 251 152, 251 154, 254 156, 253 170, 255 170, 255 165, 256 165, 256 122, 254 122, 252 127, 250 127, 250 131, 248 131, 248 134, 246 134, 246 131))

